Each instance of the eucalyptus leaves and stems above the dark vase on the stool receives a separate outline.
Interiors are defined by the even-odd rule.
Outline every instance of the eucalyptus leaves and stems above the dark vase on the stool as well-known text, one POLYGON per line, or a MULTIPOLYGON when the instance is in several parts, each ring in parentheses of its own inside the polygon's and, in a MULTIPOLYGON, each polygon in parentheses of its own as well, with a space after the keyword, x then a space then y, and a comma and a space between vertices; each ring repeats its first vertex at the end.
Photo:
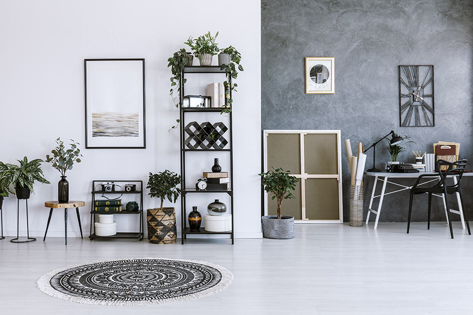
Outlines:
POLYGON ((81 150, 77 147, 79 143, 72 139, 69 140, 72 141, 70 143, 71 148, 66 150, 64 142, 61 141, 60 137, 57 138, 57 147, 51 151, 53 156, 46 155, 46 162, 52 163, 52 166, 61 173, 61 176, 66 176, 66 171, 72 170, 74 162, 81 162, 81 150))

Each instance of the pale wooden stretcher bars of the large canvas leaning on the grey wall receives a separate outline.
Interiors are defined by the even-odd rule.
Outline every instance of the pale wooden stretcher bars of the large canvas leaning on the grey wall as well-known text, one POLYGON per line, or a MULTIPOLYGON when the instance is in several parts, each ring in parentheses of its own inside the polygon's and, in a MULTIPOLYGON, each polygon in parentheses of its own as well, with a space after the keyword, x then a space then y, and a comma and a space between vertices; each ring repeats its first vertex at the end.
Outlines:
MULTIPOLYGON (((263 130, 263 172, 268 169, 268 136, 270 134, 297 134, 299 135, 300 146, 300 173, 291 174, 301 179, 301 218, 296 219, 298 223, 343 223, 343 201, 342 201, 342 150, 341 150, 341 131, 340 130, 263 130), (305 164, 305 140, 307 134, 329 134, 336 135, 337 157, 335 164, 337 172, 334 174, 308 174, 305 164), (306 185, 310 179, 336 179, 338 182, 338 219, 308 219, 306 216, 306 185)), ((297 197, 296 197, 297 198, 297 197)), ((268 214, 268 195, 263 193, 263 211, 268 214)))

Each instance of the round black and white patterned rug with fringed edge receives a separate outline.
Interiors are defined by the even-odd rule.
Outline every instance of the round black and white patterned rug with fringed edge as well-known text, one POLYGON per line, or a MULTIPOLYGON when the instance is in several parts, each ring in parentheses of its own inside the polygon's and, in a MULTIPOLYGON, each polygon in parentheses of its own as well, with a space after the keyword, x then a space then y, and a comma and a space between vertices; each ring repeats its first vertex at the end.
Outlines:
POLYGON ((54 270, 38 287, 66 301, 142 306, 201 298, 227 288, 232 279, 227 269, 203 261, 136 258, 54 270))

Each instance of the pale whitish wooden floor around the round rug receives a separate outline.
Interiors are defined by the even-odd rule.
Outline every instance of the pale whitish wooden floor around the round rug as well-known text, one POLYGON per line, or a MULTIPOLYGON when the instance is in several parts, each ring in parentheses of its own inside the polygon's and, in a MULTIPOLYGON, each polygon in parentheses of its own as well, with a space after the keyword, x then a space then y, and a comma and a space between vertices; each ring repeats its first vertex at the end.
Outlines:
POLYGON ((473 235, 455 222, 296 226, 291 240, 189 240, 186 245, 48 238, 0 241, 0 314, 28 315, 455 315, 473 313, 473 235), (44 273, 66 265, 124 257, 185 258, 233 272, 225 291, 153 307, 81 305, 36 288, 44 273))

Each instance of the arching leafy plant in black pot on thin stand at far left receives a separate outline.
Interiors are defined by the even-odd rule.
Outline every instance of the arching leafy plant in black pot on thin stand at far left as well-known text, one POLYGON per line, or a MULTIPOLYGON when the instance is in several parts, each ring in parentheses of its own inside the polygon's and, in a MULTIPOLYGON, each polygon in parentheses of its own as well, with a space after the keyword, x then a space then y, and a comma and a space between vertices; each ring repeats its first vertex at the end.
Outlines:
POLYGON ((33 184, 35 181, 44 184, 50 184, 41 170, 41 159, 35 159, 28 162, 26 156, 23 160, 17 160, 20 165, 13 165, 0 162, 0 183, 2 187, 8 187, 13 184, 15 187, 16 198, 28 199, 30 194, 34 194, 33 184))

